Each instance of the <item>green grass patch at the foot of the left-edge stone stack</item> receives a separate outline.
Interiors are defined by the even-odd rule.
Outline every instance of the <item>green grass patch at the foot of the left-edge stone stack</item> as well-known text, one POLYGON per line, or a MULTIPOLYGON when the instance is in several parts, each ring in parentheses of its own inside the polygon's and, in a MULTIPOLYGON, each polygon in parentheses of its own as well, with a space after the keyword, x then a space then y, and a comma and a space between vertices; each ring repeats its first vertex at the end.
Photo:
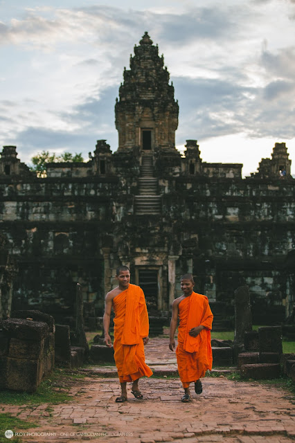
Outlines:
POLYGON ((55 369, 51 376, 40 383, 36 392, 18 392, 12 390, 1 391, 1 404, 39 405, 44 403, 59 404, 72 399, 69 390, 75 379, 82 379, 86 375, 71 371, 55 369))

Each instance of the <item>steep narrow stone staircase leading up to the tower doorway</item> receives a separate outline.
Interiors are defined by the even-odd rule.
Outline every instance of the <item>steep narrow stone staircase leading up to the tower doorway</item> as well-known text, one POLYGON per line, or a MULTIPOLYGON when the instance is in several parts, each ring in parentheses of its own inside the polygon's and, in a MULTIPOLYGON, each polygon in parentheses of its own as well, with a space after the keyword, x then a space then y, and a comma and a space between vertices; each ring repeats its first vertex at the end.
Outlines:
POLYGON ((135 215, 161 213, 161 196, 157 195, 158 179, 153 177, 152 156, 143 155, 141 177, 138 178, 139 195, 134 196, 135 215))

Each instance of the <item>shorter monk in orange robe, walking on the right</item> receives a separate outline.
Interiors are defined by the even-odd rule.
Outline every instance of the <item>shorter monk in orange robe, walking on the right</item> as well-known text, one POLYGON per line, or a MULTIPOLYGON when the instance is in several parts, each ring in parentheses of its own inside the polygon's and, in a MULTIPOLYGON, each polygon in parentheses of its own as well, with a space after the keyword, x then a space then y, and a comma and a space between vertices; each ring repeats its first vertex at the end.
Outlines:
POLYGON ((175 350, 175 331, 179 316, 178 345, 176 350, 177 366, 182 386, 184 403, 190 401, 190 383, 195 383, 195 393, 202 393, 200 378, 206 370, 212 369, 211 329, 213 314, 208 298, 193 291, 195 286, 192 274, 181 276, 180 287, 184 292, 172 303, 170 323, 170 350, 175 350))

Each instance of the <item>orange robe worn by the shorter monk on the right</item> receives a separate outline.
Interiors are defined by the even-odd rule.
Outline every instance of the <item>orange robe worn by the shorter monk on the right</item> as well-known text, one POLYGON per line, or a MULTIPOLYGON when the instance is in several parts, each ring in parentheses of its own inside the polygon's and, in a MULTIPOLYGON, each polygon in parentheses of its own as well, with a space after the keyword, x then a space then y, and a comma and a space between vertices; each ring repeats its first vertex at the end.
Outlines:
POLYGON ((178 345, 176 350, 179 377, 184 388, 191 381, 204 377, 212 369, 211 329, 213 314, 208 298, 193 292, 181 300, 179 309, 178 345), (188 334, 192 327, 203 325, 197 337, 188 334))

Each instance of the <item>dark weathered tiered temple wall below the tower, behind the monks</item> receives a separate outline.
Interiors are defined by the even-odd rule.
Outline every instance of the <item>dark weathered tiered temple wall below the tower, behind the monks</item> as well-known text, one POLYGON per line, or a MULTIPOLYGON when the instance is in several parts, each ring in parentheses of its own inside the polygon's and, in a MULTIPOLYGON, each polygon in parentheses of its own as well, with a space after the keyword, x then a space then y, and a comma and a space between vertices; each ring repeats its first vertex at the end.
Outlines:
POLYGON ((166 175, 159 179, 161 215, 142 217, 134 213, 136 177, 123 172, 1 177, 1 233, 19 269, 13 307, 42 309, 60 321, 73 315, 73 288, 80 282, 86 314, 94 308, 101 314, 123 262, 131 266, 133 282, 138 269, 161 271, 159 310, 169 309, 173 291, 180 294, 181 273, 190 271, 211 300, 231 300, 235 288, 247 284, 254 304, 263 299, 289 314, 293 180, 166 175))

